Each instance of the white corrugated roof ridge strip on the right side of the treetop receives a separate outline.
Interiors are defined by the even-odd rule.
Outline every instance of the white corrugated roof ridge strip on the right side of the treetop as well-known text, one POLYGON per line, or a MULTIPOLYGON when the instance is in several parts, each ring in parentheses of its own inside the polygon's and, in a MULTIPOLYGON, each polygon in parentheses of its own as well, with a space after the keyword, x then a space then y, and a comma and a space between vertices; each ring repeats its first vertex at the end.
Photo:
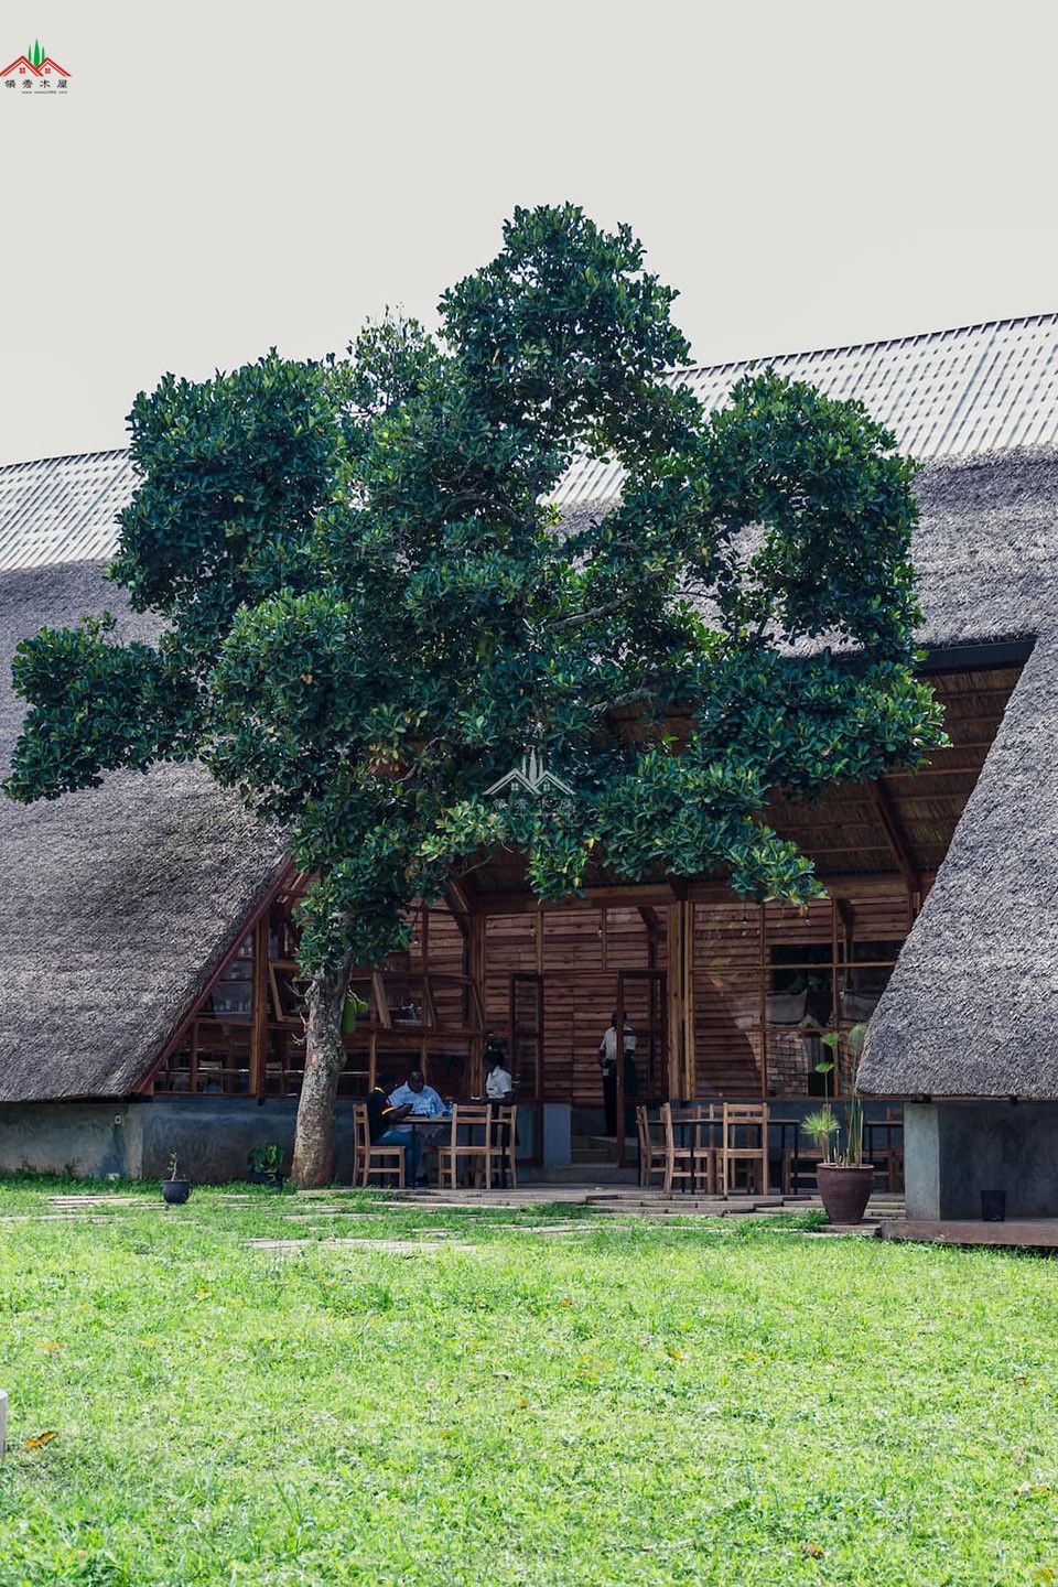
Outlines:
MULTIPOLYGON (((712 409, 739 376, 768 365, 830 397, 858 397, 893 430, 901 451, 922 460, 1058 441, 1058 314, 677 370, 671 379, 712 409)), ((555 500, 604 500, 617 494, 620 478, 615 463, 574 463, 555 500)))

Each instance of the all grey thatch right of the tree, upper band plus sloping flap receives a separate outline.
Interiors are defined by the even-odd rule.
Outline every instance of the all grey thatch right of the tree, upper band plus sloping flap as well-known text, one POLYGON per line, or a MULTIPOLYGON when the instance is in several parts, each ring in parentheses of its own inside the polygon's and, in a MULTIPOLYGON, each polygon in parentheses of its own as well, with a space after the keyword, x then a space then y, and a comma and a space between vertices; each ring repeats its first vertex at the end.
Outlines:
POLYGON ((880 1095, 1058 1097, 1058 457, 931 467, 930 644, 1031 636, 947 859, 871 1020, 880 1095))

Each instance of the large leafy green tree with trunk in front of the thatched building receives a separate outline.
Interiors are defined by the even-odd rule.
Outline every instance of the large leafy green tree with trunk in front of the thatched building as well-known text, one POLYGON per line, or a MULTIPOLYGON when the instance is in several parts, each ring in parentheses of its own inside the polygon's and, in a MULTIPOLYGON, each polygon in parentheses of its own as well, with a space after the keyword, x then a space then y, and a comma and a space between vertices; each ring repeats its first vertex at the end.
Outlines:
POLYGON ((14 798, 195 755, 287 824, 314 878, 298 1184, 332 1173, 351 966, 454 870, 504 846, 541 898, 604 868, 803 901, 771 794, 914 768, 942 736, 912 465, 858 403, 771 371, 703 413, 665 378, 688 359, 674 295, 627 227, 517 211, 438 336, 385 321, 343 360, 167 376, 130 416, 109 570, 162 638, 86 619, 17 651, 14 798), (563 524, 576 454, 623 489, 563 524), (552 792, 490 794, 528 754, 552 792))

